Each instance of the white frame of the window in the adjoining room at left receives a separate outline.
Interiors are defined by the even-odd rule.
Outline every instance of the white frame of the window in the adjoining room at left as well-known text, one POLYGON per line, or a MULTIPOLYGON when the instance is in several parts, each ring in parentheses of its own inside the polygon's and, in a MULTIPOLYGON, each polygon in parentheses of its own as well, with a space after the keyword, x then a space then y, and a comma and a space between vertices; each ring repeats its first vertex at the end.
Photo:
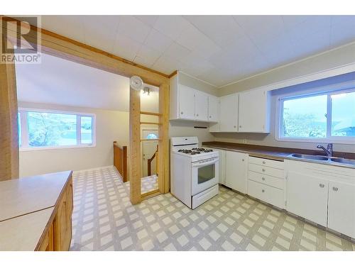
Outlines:
POLYGON ((22 138, 21 138, 21 147, 19 147, 19 150, 21 152, 33 151, 33 150, 61 150, 61 149, 96 147, 96 114, 95 113, 82 113, 82 112, 75 112, 75 111, 62 111, 62 110, 53 110, 53 109, 33 109, 33 108, 24 108, 24 107, 18 107, 18 113, 20 113, 21 116, 21 137, 22 138), (60 114, 76 115, 77 116, 77 131, 76 131, 77 141, 80 142, 80 144, 30 147, 28 145, 27 112, 60 113, 60 114), (81 117, 82 116, 92 117, 92 143, 91 144, 81 143, 81 117))

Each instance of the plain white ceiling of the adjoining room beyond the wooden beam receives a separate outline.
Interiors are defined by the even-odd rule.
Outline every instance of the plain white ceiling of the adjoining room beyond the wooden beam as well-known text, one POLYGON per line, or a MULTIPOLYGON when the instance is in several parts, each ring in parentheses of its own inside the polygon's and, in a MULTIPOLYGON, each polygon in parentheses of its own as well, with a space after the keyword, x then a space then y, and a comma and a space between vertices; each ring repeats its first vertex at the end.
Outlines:
MULTIPOLYGON (((40 64, 16 65, 18 101, 129 111, 129 78, 51 55, 40 64)), ((148 86, 148 85, 147 85, 148 86)), ((158 88, 142 96, 141 108, 157 111, 158 88)))

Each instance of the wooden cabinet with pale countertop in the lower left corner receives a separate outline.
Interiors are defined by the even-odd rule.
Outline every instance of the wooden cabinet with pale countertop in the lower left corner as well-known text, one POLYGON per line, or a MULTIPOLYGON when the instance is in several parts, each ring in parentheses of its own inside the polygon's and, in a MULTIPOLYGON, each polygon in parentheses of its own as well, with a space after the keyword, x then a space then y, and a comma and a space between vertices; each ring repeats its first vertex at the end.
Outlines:
POLYGON ((0 221, 0 251, 69 250, 73 209, 71 171, 0 182, 0 192, 2 190, 12 196, 13 201, 0 203, 0 209, 3 204, 7 204, 9 209, 6 213, 9 215, 0 221), (20 183, 26 186, 18 185, 20 183), (31 187, 36 188, 33 190, 35 193, 28 195, 26 202, 18 202, 18 196, 23 194, 22 190, 26 189, 27 194, 31 194, 31 187), (38 197, 44 202, 38 204, 38 197), (19 204, 26 205, 26 208, 19 208, 19 204), (16 213, 11 212, 12 205, 17 206, 16 213))

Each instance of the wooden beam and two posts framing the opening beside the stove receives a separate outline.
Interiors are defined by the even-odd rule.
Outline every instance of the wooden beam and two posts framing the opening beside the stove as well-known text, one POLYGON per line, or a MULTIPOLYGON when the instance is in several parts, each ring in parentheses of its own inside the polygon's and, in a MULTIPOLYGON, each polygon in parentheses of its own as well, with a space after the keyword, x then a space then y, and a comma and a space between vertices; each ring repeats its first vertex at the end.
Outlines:
MULTIPOLYGON (((6 21, 6 16, 0 19, 6 21)), ((35 31, 40 32, 40 48, 41 52, 56 57, 77 62, 89 67, 95 67, 124 77, 132 77, 134 75, 141 77, 143 82, 159 87, 159 136, 158 140, 159 153, 159 193, 168 193, 170 190, 170 167, 169 167, 169 77, 147 67, 142 67, 121 57, 112 55, 109 52, 93 48, 84 43, 77 42, 65 36, 50 31, 31 26, 28 33, 28 40, 35 43, 35 31), (32 33, 31 33, 32 31, 32 33)), ((8 31, 9 37, 16 40, 16 31, 8 31)), ((141 161, 141 102, 140 92, 130 89, 130 109, 129 109, 129 135, 130 135, 130 199, 132 204, 138 204, 144 197, 141 196, 141 167, 133 167, 136 162, 141 161), (133 189, 132 189, 133 188, 133 189)), ((16 122, 17 123, 17 122, 16 122)))

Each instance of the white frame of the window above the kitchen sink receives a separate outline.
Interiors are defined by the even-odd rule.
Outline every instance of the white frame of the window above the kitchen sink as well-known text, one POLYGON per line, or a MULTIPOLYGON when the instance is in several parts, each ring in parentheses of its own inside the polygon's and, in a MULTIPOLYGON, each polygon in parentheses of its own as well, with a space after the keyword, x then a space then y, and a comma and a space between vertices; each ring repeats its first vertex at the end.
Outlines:
POLYGON ((355 87, 346 89, 329 89, 327 91, 303 92, 302 94, 293 94, 279 96, 277 99, 278 107, 276 111, 275 139, 278 141, 306 142, 306 143, 338 143, 355 145, 355 137, 332 136, 332 95, 355 92, 355 87), (283 136, 283 103, 290 99, 302 99, 311 96, 327 95, 327 136, 325 138, 294 138, 283 136))

